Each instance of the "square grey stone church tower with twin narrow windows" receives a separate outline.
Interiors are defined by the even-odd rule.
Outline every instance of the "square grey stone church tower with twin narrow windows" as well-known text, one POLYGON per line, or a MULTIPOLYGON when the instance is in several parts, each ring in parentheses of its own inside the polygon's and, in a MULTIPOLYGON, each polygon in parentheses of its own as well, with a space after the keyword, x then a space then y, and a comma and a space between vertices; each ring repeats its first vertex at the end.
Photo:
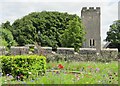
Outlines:
POLYGON ((100 36, 100 7, 83 7, 81 10, 81 18, 85 27, 86 35, 84 48, 96 48, 97 52, 101 50, 100 36))

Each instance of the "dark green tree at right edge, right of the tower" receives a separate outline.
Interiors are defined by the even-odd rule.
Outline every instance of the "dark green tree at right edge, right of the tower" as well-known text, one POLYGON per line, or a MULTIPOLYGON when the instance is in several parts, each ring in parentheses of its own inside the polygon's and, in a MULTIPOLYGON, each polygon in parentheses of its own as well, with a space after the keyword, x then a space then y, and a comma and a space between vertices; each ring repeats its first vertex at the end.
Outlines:
POLYGON ((114 21, 114 23, 110 25, 110 30, 107 32, 105 40, 115 45, 120 52, 120 20, 114 21))

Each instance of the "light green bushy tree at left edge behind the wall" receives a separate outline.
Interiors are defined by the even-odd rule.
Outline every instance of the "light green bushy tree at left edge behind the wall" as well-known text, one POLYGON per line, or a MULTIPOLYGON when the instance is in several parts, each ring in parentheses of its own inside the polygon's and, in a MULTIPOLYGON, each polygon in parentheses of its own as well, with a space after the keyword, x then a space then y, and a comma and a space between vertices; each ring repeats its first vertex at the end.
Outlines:
POLYGON ((12 45, 17 45, 15 40, 13 39, 13 35, 10 30, 6 28, 0 27, 0 39, 1 39, 1 46, 6 46, 10 48, 12 45))

